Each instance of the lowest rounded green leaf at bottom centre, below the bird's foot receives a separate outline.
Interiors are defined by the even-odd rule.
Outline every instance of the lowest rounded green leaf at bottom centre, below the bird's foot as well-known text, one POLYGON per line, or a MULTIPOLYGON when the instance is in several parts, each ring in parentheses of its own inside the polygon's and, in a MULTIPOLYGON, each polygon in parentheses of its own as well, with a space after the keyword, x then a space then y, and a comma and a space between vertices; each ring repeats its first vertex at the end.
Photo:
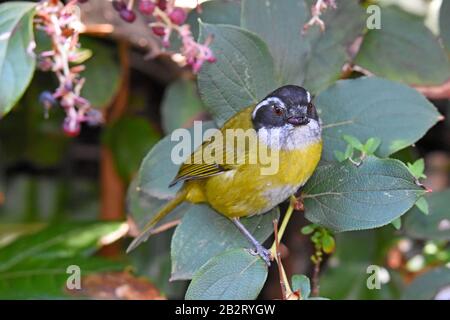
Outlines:
POLYGON ((267 278, 267 266, 246 249, 232 249, 213 257, 194 275, 188 300, 256 299, 267 278))

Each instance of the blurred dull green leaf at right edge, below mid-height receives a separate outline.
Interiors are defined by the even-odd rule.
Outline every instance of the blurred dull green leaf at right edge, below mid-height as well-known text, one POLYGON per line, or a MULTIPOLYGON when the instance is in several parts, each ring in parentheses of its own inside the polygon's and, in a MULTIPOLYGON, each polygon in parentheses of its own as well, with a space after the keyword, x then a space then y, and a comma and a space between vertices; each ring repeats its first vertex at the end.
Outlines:
POLYGON ((450 189, 427 196, 429 215, 416 207, 405 217, 403 229, 415 239, 450 240, 450 189))

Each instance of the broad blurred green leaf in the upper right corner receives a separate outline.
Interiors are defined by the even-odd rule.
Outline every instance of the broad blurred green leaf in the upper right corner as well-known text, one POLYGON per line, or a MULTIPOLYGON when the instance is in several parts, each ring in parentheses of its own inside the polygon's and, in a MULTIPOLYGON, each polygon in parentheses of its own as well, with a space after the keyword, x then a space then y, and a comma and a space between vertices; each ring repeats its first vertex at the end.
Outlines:
POLYGON ((423 18, 395 7, 382 9, 381 17, 382 28, 364 37, 355 59, 358 65, 408 84, 437 85, 450 77, 448 57, 423 18))

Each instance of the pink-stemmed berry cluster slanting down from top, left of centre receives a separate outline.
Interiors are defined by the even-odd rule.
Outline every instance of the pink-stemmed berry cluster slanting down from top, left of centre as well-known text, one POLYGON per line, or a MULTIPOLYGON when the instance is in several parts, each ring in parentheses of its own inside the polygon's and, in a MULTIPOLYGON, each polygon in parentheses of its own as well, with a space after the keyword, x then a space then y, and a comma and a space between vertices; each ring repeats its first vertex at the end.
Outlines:
MULTIPOLYGON (((113 0, 112 5, 124 21, 132 23, 136 20, 134 0, 113 0)), ((205 61, 215 61, 209 48, 212 39, 208 38, 204 44, 195 41, 190 26, 185 24, 187 12, 183 8, 176 7, 174 0, 139 0, 137 9, 140 14, 153 17, 154 21, 150 23, 150 28, 154 35, 161 38, 163 47, 170 46, 173 33, 178 34, 182 44, 180 53, 195 73, 205 61)))

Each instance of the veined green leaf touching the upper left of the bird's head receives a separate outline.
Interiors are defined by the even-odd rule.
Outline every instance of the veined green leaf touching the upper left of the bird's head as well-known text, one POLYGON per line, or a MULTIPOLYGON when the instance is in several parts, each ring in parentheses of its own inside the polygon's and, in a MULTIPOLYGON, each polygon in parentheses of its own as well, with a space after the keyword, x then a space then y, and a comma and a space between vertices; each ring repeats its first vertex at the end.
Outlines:
POLYGON ((227 25, 202 24, 200 40, 214 36, 215 63, 203 65, 198 87, 206 108, 221 126, 237 111, 276 88, 267 45, 255 34, 227 25))

